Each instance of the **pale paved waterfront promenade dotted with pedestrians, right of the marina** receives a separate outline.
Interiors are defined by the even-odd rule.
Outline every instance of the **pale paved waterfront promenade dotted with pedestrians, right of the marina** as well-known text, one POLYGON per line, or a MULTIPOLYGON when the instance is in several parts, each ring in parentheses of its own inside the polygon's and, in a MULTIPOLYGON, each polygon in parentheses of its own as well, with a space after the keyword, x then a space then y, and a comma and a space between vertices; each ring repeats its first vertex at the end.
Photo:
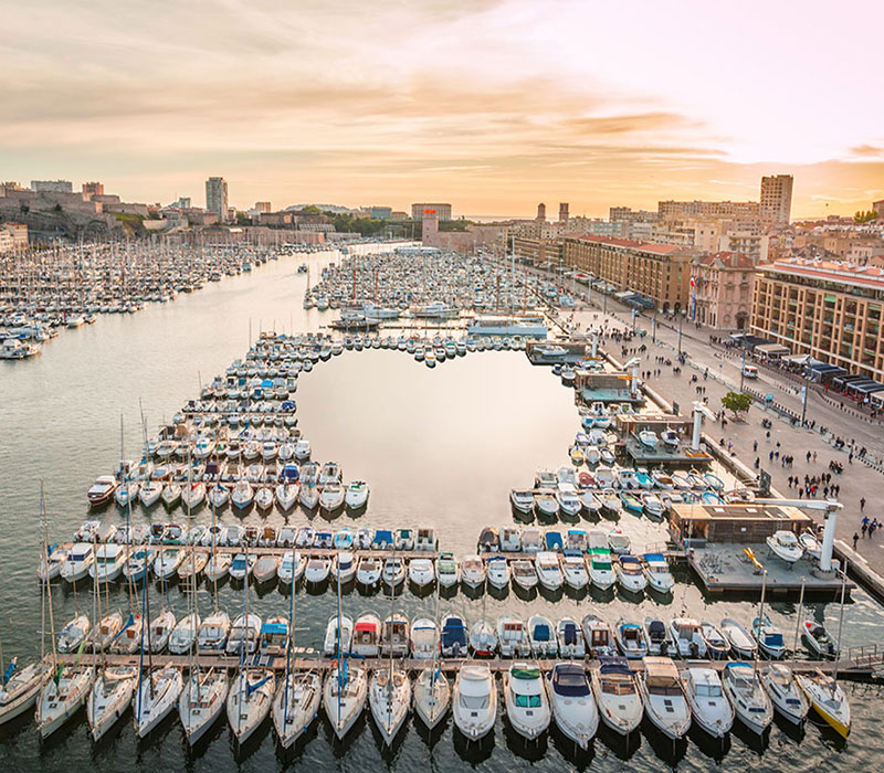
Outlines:
MULTIPOLYGON (((566 327, 580 332, 590 328, 602 328, 608 331, 630 331, 633 329, 632 311, 630 308, 613 301, 610 297, 604 301, 607 314, 602 314, 602 298, 593 294, 592 305, 583 304, 572 314, 559 314, 566 327)), ((707 404, 713 412, 722 410, 722 398, 728 391, 738 391, 740 385, 740 357, 739 352, 733 356, 724 356, 720 347, 714 346, 708 340, 708 332, 697 329, 695 326, 685 325, 682 331, 681 350, 686 353, 686 363, 681 367, 677 373, 675 367, 678 364, 676 357, 678 351, 678 330, 669 326, 656 325, 648 317, 635 318, 635 330, 644 330, 645 335, 636 335, 631 341, 622 345, 611 338, 606 338, 606 350, 613 357, 621 359, 622 347, 630 351, 629 357, 635 356, 638 348, 644 345, 644 352, 641 352, 642 371, 651 371, 652 377, 648 379, 649 385, 670 402, 678 403, 682 414, 691 411, 693 402, 707 399, 707 404), (653 329, 652 329, 653 328, 653 329), (652 338, 653 336, 653 338, 652 338), (636 351, 631 351, 636 349, 636 351), (661 364, 656 360, 659 357, 672 361, 672 366, 661 364), (708 369, 708 375, 706 375, 708 369), (659 374, 655 374, 656 371, 659 374), (692 381, 692 375, 697 375, 697 381, 692 381), (702 386, 705 391, 702 395, 697 394, 696 388, 702 386)), ((797 415, 801 414, 800 393, 796 394, 796 383, 786 378, 777 378, 777 374, 764 370, 760 378, 745 384, 761 394, 774 394, 776 403, 793 411, 797 415)), ((755 460, 759 459, 759 468, 766 470, 771 477, 771 487, 780 496, 786 498, 798 498, 796 487, 789 487, 788 478, 797 476, 803 481, 804 476, 819 476, 829 473, 829 463, 838 462, 843 467, 842 474, 832 474, 832 484, 840 487, 838 496, 843 509, 839 513, 836 530, 836 548, 851 564, 859 564, 860 570, 884 575, 884 531, 874 534, 872 538, 862 538, 857 541, 857 549, 854 553, 852 549, 853 534, 861 532, 861 521, 863 516, 877 518, 884 522, 884 501, 876 496, 876 491, 884 487, 884 473, 875 466, 870 466, 857 457, 857 452, 865 446, 867 454, 877 458, 884 458, 884 430, 877 422, 870 422, 869 419, 860 416, 856 412, 848 412, 840 407, 838 402, 829 402, 817 394, 811 394, 808 401, 807 411, 808 422, 814 421, 815 428, 810 430, 800 425, 793 425, 791 421, 782 417, 771 407, 765 407, 755 403, 746 415, 745 420, 733 421, 733 416, 727 413, 727 424, 722 426, 720 422, 705 421, 704 432, 713 442, 724 440, 725 447, 730 444, 732 454, 739 459, 746 467, 756 469, 755 460), (766 437, 766 430, 761 426, 761 420, 768 419, 772 423, 770 427, 770 438, 766 437), (821 427, 828 427, 829 432, 822 434, 821 427), (855 453, 851 460, 850 447, 836 448, 833 445, 835 438, 841 437, 846 443, 853 443, 855 453), (757 443, 757 451, 755 448, 757 443), (779 443, 779 446, 777 446, 779 443), (779 451, 779 458, 770 459, 770 452, 779 451), (811 460, 808 462, 807 453, 811 453, 811 460), (813 454, 815 452, 815 462, 813 454), (794 462, 790 468, 782 466, 782 455, 791 455, 794 462), (860 500, 865 498, 865 509, 861 512, 860 500)), ((819 486, 817 499, 822 500, 822 485, 819 486)), ((821 522, 822 515, 818 511, 808 511, 814 521, 821 522)))

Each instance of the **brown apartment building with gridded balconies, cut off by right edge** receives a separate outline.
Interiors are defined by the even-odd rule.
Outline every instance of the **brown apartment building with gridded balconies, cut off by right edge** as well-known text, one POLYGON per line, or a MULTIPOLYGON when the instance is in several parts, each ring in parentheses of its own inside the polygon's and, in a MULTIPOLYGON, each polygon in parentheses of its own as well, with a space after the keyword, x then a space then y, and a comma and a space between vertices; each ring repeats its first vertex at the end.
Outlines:
POLYGON ((751 332, 884 381, 884 268, 788 258, 757 268, 751 332))

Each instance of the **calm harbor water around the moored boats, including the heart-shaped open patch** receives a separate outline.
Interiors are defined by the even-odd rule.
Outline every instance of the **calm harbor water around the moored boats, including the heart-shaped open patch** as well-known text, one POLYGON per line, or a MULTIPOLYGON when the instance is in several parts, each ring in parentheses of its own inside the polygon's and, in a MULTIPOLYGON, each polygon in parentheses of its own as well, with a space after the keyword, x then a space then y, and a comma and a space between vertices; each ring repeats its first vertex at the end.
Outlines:
MULTIPOLYGON (((319 267, 336 257, 335 253, 312 255, 314 279, 319 267)), ((120 416, 124 455, 137 458, 145 433, 155 434, 186 400, 198 396, 201 384, 243 358, 261 329, 297 332, 327 325, 329 313, 302 307, 308 276, 296 273, 298 260, 271 261, 137 315, 103 315, 97 324, 48 342, 40 357, 0 362, 0 638, 7 661, 12 655, 24 661, 41 653, 35 573, 42 540, 41 480, 50 540, 70 540, 88 517, 86 489, 119 459, 120 416)), ((345 479, 362 479, 371 487, 360 518, 345 513, 329 528, 429 526, 440 549, 459 558, 475 552, 483 527, 513 523, 511 488, 529 486, 540 467, 567 464, 567 448, 578 430, 572 391, 562 388, 548 369, 532 367, 523 352, 515 351, 471 353, 433 370, 403 352, 347 351, 303 373, 295 400, 298 427, 312 442, 313 458, 337 460, 345 479)), ((145 522, 161 520, 164 515, 161 507, 149 515, 134 508, 131 518, 145 522)), ((125 522, 125 513, 113 505, 102 517, 125 522)), ((275 511, 269 518, 274 526, 284 521, 275 511)), ((211 512, 203 508, 198 522, 210 519, 211 512)), ((249 519, 261 522, 256 513, 249 519)), ((228 509, 222 520, 234 522, 235 518, 228 509)), ((625 513, 620 520, 639 550, 662 537, 661 527, 646 520, 625 513)), ((299 508, 285 519, 291 526, 315 526, 315 521, 324 523, 299 508)), ((586 522, 581 526, 590 528, 586 522)), ((390 600, 350 590, 341 603, 351 617, 367 610, 383 617, 393 610, 409 620, 419 614, 440 618, 453 610, 467 625, 478 617, 496 621, 512 613, 527 620, 538 612, 552 621, 566 615, 580 620, 594 612, 611 624, 621 617, 641 621, 650 614, 665 620, 683 613, 715 621, 733 616, 747 623, 754 616, 751 603, 706 599, 688 570, 680 568, 675 573, 675 593, 665 600, 649 594, 634 601, 619 593, 600 599, 594 592, 524 599, 512 590, 503 597, 457 593, 441 600, 434 594, 417 597, 406 590, 390 600)), ((288 599, 275 586, 249 593, 251 611, 264 617, 287 614, 288 599)), ((186 613, 188 602, 179 587, 154 583, 150 594, 154 603, 165 601, 179 617, 186 613)), ((242 595, 241 589, 229 583, 219 590, 220 604, 231 616, 241 611, 242 595)), ((75 608, 92 613, 88 586, 74 594, 56 584, 52 601, 56 627, 75 608)), ((212 603, 203 583, 199 591, 203 615, 212 603)), ((122 585, 112 591, 112 606, 128 610, 128 605, 122 585)), ((830 631, 838 629, 838 604, 806 607, 806 615, 824 621, 830 631)), ((334 585, 319 593, 299 589, 296 644, 322 648, 326 623, 336 610, 334 585)), ((775 602, 771 617, 791 644, 796 604, 775 602)), ((881 605, 863 591, 854 592, 845 608, 842 647, 884 638, 882 622, 881 605)), ((81 716, 43 743, 32 721, 0 730, 0 770, 880 770, 884 741, 876 722, 884 709, 884 691, 876 685, 844 682, 842 687, 853 714, 848 741, 812 714, 802 731, 778 719, 764 742, 735 724, 723 743, 696 729, 673 743, 645 721, 628 741, 602 727, 589 751, 580 752, 552 727, 540 741, 525 743, 501 712, 493 737, 482 744, 467 744, 450 720, 428 735, 411 719, 392 750, 381 751, 366 711, 343 744, 332 742, 334 734, 320 720, 305 743, 283 753, 271 723, 265 722, 254 739, 236 749, 228 724, 221 721, 207 742, 188 751, 177 721, 168 721, 146 742, 138 742, 127 719, 93 744, 81 716)))

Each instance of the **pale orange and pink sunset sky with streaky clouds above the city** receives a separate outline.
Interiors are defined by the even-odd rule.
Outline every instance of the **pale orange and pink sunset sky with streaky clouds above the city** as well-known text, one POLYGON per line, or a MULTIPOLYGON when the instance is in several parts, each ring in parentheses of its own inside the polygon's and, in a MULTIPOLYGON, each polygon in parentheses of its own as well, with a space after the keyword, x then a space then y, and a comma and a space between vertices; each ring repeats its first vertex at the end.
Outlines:
POLYGON ((0 179, 168 203, 572 214, 884 198, 884 7, 29 0, 0 23, 0 179))

